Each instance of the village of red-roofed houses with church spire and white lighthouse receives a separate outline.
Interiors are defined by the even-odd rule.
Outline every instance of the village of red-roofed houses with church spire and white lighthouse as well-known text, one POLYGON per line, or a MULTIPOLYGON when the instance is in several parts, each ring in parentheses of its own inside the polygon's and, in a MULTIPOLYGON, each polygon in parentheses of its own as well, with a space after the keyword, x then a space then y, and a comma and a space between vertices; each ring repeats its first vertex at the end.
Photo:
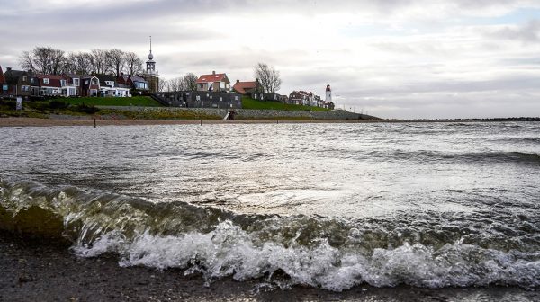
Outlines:
MULTIPOLYGON (((242 97, 257 101, 282 102, 333 110, 330 84, 326 86, 325 99, 320 95, 295 90, 288 95, 268 91, 258 78, 248 81, 236 80, 231 84, 226 73, 198 76, 190 89, 177 90, 160 84, 156 61, 150 51, 146 68, 137 75, 119 72, 89 75, 62 73, 60 75, 35 73, 32 70, 15 70, 0 66, 0 97, 21 97, 25 100, 59 97, 131 97, 149 95, 164 106, 186 108, 242 108, 242 97)), ((113 102, 112 102, 113 103, 113 102)))

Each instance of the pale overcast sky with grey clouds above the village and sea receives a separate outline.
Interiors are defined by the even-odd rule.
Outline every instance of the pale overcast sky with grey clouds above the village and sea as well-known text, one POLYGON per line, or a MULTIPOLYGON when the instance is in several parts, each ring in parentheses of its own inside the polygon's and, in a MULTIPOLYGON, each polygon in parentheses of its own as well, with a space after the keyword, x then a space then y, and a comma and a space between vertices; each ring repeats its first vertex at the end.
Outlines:
MULTIPOLYGON (((391 119, 540 116, 540 0, 0 0, 0 66, 25 50, 122 49, 162 78, 275 67, 391 119)), ((337 97, 337 100, 336 100, 337 97)))

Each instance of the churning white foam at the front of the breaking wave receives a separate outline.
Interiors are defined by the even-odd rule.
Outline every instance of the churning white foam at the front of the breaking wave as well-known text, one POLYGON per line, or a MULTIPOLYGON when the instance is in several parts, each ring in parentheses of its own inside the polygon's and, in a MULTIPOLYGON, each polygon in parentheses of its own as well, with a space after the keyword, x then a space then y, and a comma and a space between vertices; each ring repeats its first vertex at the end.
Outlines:
POLYGON ((320 239, 311 248, 294 243, 284 246, 256 242, 240 227, 226 221, 208 234, 160 236, 147 232, 128 242, 120 234, 112 233, 92 246, 77 246, 75 251, 85 257, 120 253, 122 266, 189 269, 188 272, 201 271, 207 279, 271 279, 281 270, 290 276, 284 286, 302 284, 335 291, 363 282, 377 287, 404 283, 428 288, 540 285, 540 254, 527 261, 518 254, 455 243, 438 251, 421 244, 404 244, 362 255, 338 250, 326 239, 320 239))

